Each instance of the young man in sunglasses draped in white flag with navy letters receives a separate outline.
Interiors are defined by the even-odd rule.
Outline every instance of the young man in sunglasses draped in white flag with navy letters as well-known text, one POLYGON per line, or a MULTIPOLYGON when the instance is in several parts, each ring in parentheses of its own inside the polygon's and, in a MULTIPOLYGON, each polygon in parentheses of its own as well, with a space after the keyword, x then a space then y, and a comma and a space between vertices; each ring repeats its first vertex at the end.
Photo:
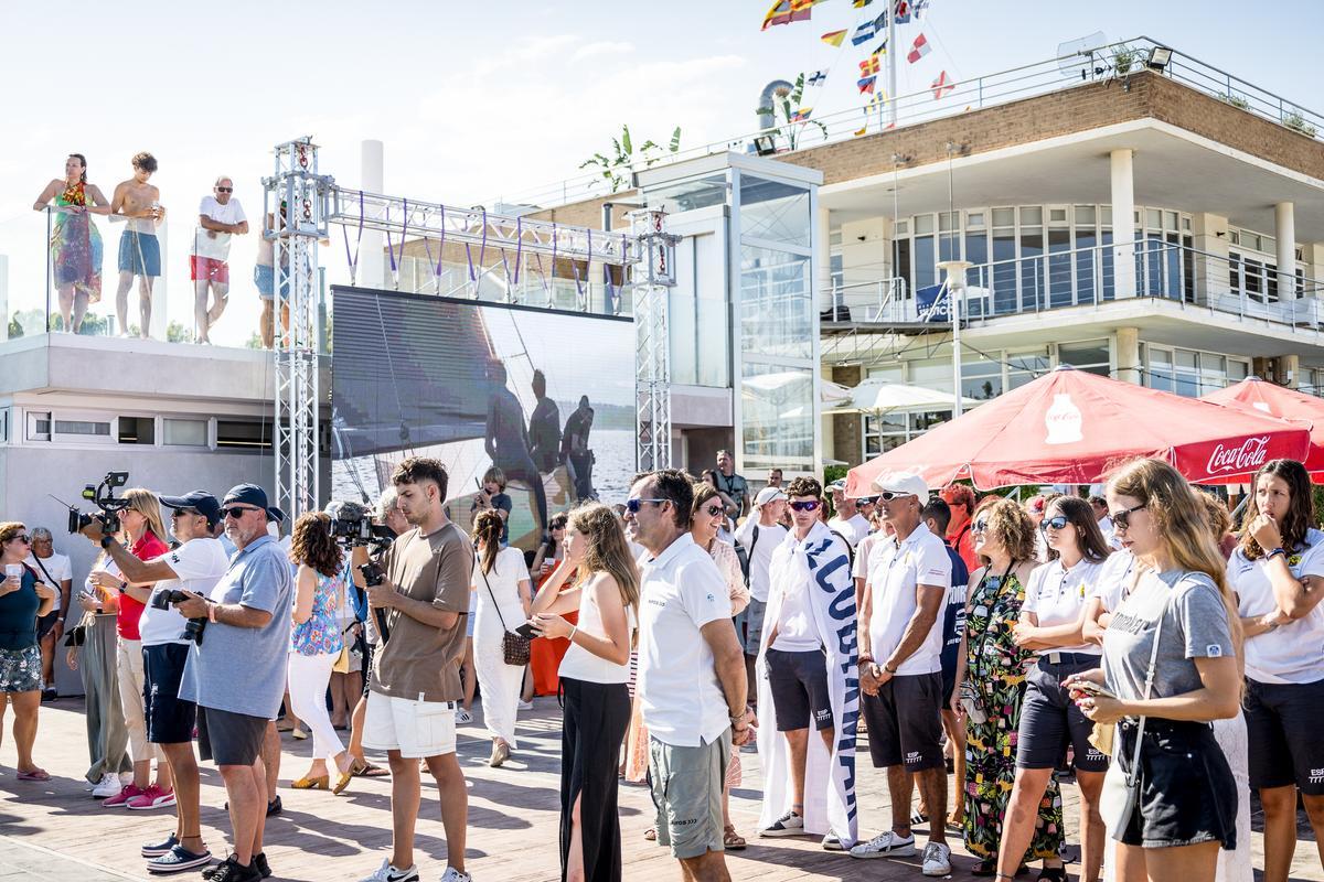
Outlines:
POLYGON ((855 844, 858 830, 855 583, 846 541, 818 518, 818 481, 797 477, 786 493, 794 528, 772 555, 757 662, 765 721, 759 836, 808 833, 841 850, 855 844))

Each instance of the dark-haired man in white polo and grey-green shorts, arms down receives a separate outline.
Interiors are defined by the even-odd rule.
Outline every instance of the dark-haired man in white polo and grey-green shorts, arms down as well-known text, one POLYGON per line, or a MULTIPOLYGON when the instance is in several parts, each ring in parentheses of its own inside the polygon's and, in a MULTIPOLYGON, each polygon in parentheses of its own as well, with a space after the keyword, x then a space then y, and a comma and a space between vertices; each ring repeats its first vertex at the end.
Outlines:
POLYGON ((694 489, 677 469, 641 475, 625 504, 639 567, 639 678, 657 842, 686 879, 727 882, 722 782, 731 743, 753 734, 726 579, 690 538, 694 489))

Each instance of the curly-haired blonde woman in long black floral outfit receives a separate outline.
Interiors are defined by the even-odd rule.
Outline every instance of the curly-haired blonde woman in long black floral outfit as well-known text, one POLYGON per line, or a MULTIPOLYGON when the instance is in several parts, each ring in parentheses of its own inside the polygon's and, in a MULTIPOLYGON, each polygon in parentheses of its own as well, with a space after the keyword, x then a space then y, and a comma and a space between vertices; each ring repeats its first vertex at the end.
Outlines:
MULTIPOLYGON (((1018 504, 994 497, 976 510, 970 533, 984 566, 970 574, 952 710, 965 715, 965 848, 980 858, 970 873, 993 875, 1016 782, 1025 677, 1034 664, 1034 653, 1016 645, 1012 629, 1037 565, 1035 529, 1018 504)), ((1061 850, 1062 796, 1051 780, 1026 857, 1057 860, 1061 850)))

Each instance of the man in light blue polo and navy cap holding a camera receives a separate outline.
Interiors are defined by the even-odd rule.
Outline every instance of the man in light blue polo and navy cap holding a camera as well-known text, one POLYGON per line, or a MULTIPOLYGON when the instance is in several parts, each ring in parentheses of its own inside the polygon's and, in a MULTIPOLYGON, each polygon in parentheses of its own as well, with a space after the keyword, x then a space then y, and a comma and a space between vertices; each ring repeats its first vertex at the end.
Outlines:
POLYGON ((216 762, 229 797, 233 853, 213 882, 258 882, 266 874, 262 826, 267 721, 281 707, 290 648, 294 579, 290 561, 266 532, 266 492, 230 488, 221 502, 236 553, 208 594, 183 590, 180 615, 203 627, 189 647, 179 697, 197 705, 197 746, 216 762))

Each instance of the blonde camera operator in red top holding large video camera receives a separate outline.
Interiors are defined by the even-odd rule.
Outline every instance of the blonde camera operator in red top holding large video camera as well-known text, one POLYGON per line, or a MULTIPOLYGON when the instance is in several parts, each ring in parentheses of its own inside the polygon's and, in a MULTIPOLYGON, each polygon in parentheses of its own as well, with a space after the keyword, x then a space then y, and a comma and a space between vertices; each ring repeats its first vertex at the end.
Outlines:
MULTIPOLYGON (((152 581, 136 582, 124 575, 123 566, 115 557, 113 546, 118 547, 123 559, 135 562, 150 561, 169 550, 166 545, 166 525, 162 522, 160 505, 156 495, 148 489, 134 487, 124 491, 123 499, 114 500, 113 488, 127 483, 127 472, 113 472, 106 476, 105 487, 111 495, 95 497, 102 514, 79 518, 81 533, 106 549, 118 571, 107 569, 93 570, 91 581, 97 583, 117 607, 115 631, 118 633, 115 651, 115 672, 119 684, 119 702, 124 710, 124 723, 128 726, 128 754, 134 760, 134 780, 124 784, 118 793, 106 799, 105 805, 126 805, 136 809, 166 808, 175 804, 175 791, 171 783, 169 763, 166 752, 154 748, 147 742, 147 717, 143 702, 143 640, 139 631, 143 608, 152 590, 152 581), (120 480, 123 479, 123 480, 120 480), (126 549, 114 537, 105 536, 106 528, 122 528, 126 549), (136 583, 135 583, 136 582, 136 583), (151 780, 152 756, 156 758, 156 780, 151 780)), ((87 493, 85 492, 86 497, 87 493)))

